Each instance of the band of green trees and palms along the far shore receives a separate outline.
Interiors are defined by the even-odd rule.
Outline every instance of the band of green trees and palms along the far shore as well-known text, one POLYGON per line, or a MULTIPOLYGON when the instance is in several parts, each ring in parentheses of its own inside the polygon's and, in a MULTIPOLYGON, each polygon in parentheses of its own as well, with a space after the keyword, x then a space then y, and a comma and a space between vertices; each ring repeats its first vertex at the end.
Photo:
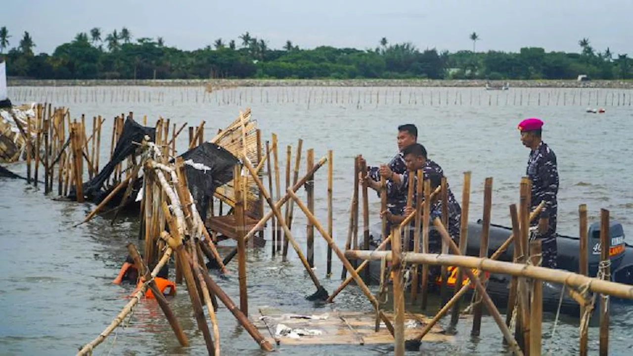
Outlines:
MULTIPOLYGON (((6 27, 0 29, 0 53, 9 48, 6 27)), ((161 37, 137 38, 125 27, 103 36, 101 29, 81 32, 53 54, 35 55, 34 39, 24 32, 18 46, 0 54, 8 75, 32 79, 591 79, 633 77, 627 54, 613 58, 610 49, 594 51, 589 39, 579 41, 580 53, 521 48, 519 53, 477 53, 481 41, 470 34, 472 51, 438 53, 411 43, 389 44, 383 37, 375 49, 320 46, 300 49, 287 41, 283 49, 268 48, 248 32, 239 41, 217 39, 213 48, 182 51, 165 46, 161 37)), ((12 42, 12 41, 11 41, 12 42)))

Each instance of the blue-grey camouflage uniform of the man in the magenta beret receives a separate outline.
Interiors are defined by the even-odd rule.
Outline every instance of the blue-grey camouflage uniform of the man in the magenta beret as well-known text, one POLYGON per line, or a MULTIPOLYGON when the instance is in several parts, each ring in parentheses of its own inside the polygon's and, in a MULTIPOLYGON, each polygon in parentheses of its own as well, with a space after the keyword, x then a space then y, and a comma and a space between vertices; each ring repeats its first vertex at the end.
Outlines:
MULTIPOLYGON (((541 201, 545 201, 539 218, 549 218, 548 231, 544 234, 533 231, 531 238, 541 239, 542 266, 556 268, 556 215, 558 210, 556 194, 558 193, 558 168, 556 167, 556 155, 547 144, 541 142, 537 149, 530 152, 526 174, 532 181, 532 207, 530 210, 534 210, 541 201)), ((538 226, 538 224, 539 219, 534 219, 530 223, 530 226, 538 226)))

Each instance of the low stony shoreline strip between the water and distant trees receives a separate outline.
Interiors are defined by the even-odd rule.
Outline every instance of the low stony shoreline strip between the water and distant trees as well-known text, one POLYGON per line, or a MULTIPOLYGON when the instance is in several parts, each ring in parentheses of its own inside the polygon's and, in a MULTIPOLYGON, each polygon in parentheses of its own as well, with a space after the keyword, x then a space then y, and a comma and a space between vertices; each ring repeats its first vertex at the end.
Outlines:
POLYGON ((430 80, 430 79, 94 79, 39 80, 11 79, 8 87, 68 87, 68 86, 148 86, 148 87, 485 87, 510 83, 513 87, 542 88, 607 88, 633 89, 631 80, 430 80))

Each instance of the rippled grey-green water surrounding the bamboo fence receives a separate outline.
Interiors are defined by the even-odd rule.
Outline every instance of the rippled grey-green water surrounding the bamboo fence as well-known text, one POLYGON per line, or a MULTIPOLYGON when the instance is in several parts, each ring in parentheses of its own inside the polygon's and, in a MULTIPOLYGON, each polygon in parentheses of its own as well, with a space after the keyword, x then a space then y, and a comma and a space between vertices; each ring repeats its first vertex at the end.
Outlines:
MULTIPOLYGON (((88 118, 93 115, 107 118, 103 128, 106 138, 102 137, 102 165, 108 160, 106 151, 109 154, 109 149, 106 148, 110 144, 111 118, 120 113, 134 111, 137 120, 147 115, 151 123, 158 115, 170 118, 177 125, 184 122, 197 125, 205 120, 205 138, 209 139, 218 127, 224 127, 237 117, 239 108, 251 106, 263 137, 270 137, 273 132, 279 136, 280 167, 285 165, 285 146, 291 144, 294 149, 299 137, 304 140, 304 148, 315 149, 317 158, 326 155, 327 149, 334 149, 334 238, 339 246, 344 245, 346 238, 353 184, 349 168, 353 156, 361 153, 370 164, 389 160, 396 153, 396 126, 404 123, 418 125, 418 140, 426 146, 430 158, 442 165, 457 197, 461 196, 462 172, 472 171, 470 220, 482 215, 484 178, 494 177, 492 221, 508 225, 508 205, 518 203, 518 185, 529 154, 520 144, 516 125, 524 117, 541 117, 546 122, 544 141, 558 156, 559 232, 577 234, 580 203, 588 205, 590 222, 598 220, 600 208, 607 208, 612 219, 624 225, 625 232, 633 229, 630 217, 633 210, 630 182, 633 111, 628 102, 630 92, 626 92, 620 106, 617 105, 621 94, 622 91, 592 90, 590 99, 589 91, 571 89, 486 92, 454 88, 382 88, 379 91, 375 88, 248 88, 219 91, 212 96, 203 96, 201 89, 194 88, 22 87, 9 90, 9 96, 19 95, 20 101, 53 98, 55 105, 69 107, 73 118, 80 117, 81 113, 88 118), (594 102, 597 94, 598 105, 594 102), (605 106, 607 111, 600 115, 586 113, 587 106, 605 106)), ((92 119, 87 122, 91 123, 92 119)), ((185 130, 179 140, 180 149, 186 139, 185 130)), ((21 164, 9 168, 25 172, 21 164)), ((304 170, 305 163, 301 172, 304 170)), ((283 177, 282 172, 282 184, 283 177)), ((323 222, 327 206, 326 177, 323 169, 315 182, 316 215, 323 222)), ((303 190, 299 193, 304 196, 303 190)), ((73 228, 93 206, 51 198, 45 197, 41 188, 35 189, 24 181, 0 179, 0 241, 4 247, 4 256, 0 258, 3 271, 0 354, 3 355, 75 353, 78 347, 103 331, 127 303, 125 297, 132 290, 115 286, 111 280, 127 253, 126 243, 137 242, 137 219, 128 217, 111 225, 110 220, 97 217, 73 228)), ((370 194, 371 222, 377 221, 378 208, 377 196, 370 194)), ((305 219, 298 211, 295 215, 299 218, 293 224, 293 231, 298 243, 305 246, 305 219)), ((334 257, 334 277, 326 279, 327 245, 318 232, 315 241, 316 274, 331 292, 340 283, 342 266, 334 257)), ((222 249, 221 253, 227 250, 222 249)), ((237 265, 230 264, 229 269, 230 279, 218 277, 216 281, 239 303, 237 265)), ((249 250, 248 287, 252 318, 259 316, 257 307, 264 305, 286 312, 306 312, 313 308, 317 308, 313 312, 330 311, 329 306, 315 306, 304 299, 315 289, 293 251, 289 253, 289 261, 282 262, 279 255, 272 257, 270 246, 249 250)), ((204 353, 204 341, 197 331, 184 284, 179 286, 178 292, 170 303, 191 346, 180 347, 158 305, 143 300, 135 307, 130 322, 125 323, 127 327, 117 329, 116 338, 115 334, 111 335, 97 347, 96 354, 204 353)), ((372 311, 370 303, 355 287, 347 288, 335 302, 339 310, 372 311)), ((632 308, 612 308, 610 354, 632 352, 633 341, 628 334, 633 327, 632 317, 632 308)), ((544 318, 544 352, 577 353, 577 318, 561 316, 553 338, 549 336, 554 315, 546 314, 544 318)), ((218 320, 222 353, 263 354, 223 305, 218 310, 218 320)), ((482 333, 477 340, 470 338, 470 327, 469 321, 460 322, 453 343, 424 343, 419 353, 490 355, 506 352, 501 344, 501 333, 491 317, 484 316, 482 333)), ((589 346, 591 353, 597 352, 596 327, 589 331, 589 346)), ((284 355, 380 355, 392 353, 392 346, 282 345, 279 350, 284 355)))

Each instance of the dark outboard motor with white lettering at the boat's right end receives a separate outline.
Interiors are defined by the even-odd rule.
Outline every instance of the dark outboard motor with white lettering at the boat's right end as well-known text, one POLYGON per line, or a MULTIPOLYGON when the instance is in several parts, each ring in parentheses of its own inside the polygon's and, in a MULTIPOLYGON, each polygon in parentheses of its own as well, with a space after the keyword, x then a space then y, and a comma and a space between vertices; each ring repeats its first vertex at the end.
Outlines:
MULTIPOLYGON (((610 234, 610 247, 609 257, 611 260, 611 279, 613 279, 613 272, 620 267, 622 260, 624 260, 626 253, 626 245, 624 243, 624 229, 622 224, 616 221, 611 221, 609 226, 610 234)), ((587 262, 589 262, 589 276, 595 277, 598 274, 598 265, 600 263, 601 243, 600 243, 600 223, 594 222, 589 226, 587 233, 589 243, 587 244, 587 262)))

